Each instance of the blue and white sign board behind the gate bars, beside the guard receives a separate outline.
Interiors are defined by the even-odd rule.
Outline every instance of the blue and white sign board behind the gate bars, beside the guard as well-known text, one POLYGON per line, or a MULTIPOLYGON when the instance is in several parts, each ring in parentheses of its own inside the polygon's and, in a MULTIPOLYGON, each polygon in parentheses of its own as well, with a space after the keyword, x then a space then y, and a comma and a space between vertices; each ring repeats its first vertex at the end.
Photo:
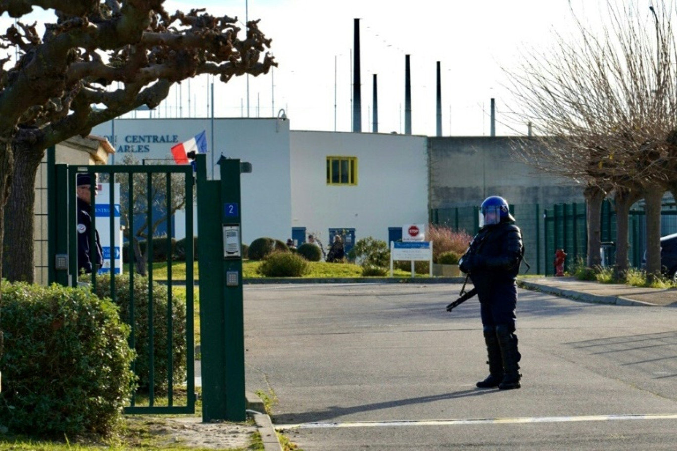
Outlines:
MULTIPOLYGON (((121 274, 123 268, 123 231, 120 229, 120 184, 115 183, 113 192, 113 233, 115 236, 115 247, 112 255, 115 259, 115 274, 121 274)), ((95 200, 96 230, 99 232, 99 241, 104 253, 104 261, 99 272, 110 272, 112 263, 110 261, 110 183, 99 183, 95 200)))

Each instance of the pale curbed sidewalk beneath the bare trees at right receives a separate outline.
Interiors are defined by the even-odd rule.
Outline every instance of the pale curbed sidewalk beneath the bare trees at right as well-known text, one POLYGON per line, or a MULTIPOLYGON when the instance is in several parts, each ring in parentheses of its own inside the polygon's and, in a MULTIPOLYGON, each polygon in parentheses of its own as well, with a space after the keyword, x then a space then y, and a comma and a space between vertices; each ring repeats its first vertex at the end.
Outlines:
POLYGON ((517 284, 525 289, 594 304, 677 306, 677 288, 639 288, 579 281, 573 277, 520 277, 517 284))

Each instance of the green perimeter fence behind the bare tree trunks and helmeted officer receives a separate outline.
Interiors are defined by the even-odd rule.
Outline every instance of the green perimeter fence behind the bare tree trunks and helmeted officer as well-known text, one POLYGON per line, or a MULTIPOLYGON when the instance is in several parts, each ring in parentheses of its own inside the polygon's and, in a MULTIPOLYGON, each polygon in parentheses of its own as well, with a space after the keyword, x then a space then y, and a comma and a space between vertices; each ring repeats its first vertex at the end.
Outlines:
MULTIPOLYGON (((510 206, 517 225, 522 229, 525 260, 531 268, 529 274, 554 275, 554 253, 563 249, 567 253, 565 270, 571 271, 575 262, 587 258, 587 217, 584 202, 541 206, 527 204, 510 206)), ((601 212, 601 252, 603 266, 615 264, 616 212, 613 201, 605 200, 601 212)), ((475 235, 479 230, 479 208, 452 207, 431 210, 431 222, 454 230, 475 235)), ((628 239, 630 241, 630 266, 641 268, 645 250, 646 215, 642 208, 630 210, 628 239)), ((677 233, 677 210, 664 206, 661 214, 661 236, 677 233)), ((527 272, 522 265, 521 273, 527 272)))

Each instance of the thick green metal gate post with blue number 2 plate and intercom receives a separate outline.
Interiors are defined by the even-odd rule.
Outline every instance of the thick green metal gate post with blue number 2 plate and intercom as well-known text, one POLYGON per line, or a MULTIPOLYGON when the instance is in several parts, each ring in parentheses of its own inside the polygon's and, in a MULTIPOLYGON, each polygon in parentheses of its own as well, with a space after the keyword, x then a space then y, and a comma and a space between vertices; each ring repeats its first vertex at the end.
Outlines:
POLYGON ((206 179, 206 156, 198 155, 196 164, 200 243, 223 243, 201 245, 198 252, 202 421, 244 421, 240 160, 219 161, 221 181, 206 179), (240 235, 233 233, 234 228, 240 235), (227 255, 227 250, 233 252, 227 255))

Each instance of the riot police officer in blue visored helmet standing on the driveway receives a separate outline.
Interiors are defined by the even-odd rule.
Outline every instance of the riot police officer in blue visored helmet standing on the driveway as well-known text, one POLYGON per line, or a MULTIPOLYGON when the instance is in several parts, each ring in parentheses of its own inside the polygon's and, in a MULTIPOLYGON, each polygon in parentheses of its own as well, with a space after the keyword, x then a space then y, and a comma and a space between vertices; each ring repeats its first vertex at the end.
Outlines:
POLYGON ((479 233, 459 262, 460 270, 469 275, 477 289, 489 355, 489 376, 477 387, 521 387, 515 310, 516 277, 523 251, 521 231, 508 203, 502 197, 487 197, 480 210, 479 233))

